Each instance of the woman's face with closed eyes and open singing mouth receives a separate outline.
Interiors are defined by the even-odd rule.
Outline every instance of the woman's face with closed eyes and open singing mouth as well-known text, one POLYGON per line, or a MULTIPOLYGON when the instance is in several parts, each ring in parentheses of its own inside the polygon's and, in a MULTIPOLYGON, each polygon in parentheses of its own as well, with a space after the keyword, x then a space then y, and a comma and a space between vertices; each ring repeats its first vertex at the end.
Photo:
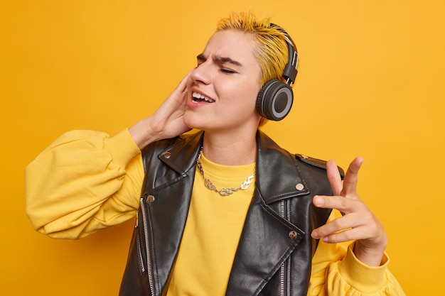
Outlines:
POLYGON ((261 68, 254 45, 252 35, 240 31, 220 31, 210 38, 188 80, 184 114, 188 126, 205 131, 256 130, 261 68))

